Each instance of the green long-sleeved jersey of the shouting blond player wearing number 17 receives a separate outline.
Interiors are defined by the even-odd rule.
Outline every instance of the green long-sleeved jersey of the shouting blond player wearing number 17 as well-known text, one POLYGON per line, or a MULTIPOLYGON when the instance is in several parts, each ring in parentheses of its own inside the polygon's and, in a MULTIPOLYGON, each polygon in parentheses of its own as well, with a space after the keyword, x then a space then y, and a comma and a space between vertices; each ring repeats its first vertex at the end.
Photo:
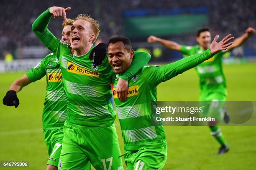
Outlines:
MULTIPOLYGON (((35 20, 32 29, 44 45, 58 56, 67 97, 67 120, 84 126, 112 125, 115 120, 110 102, 113 70, 108 55, 99 66, 94 65, 89 57, 94 47, 82 56, 73 55, 69 45, 54 37, 47 29, 51 17, 49 9, 46 10, 35 20)), ((145 52, 139 53, 142 56, 135 55, 131 69, 122 78, 133 77, 150 60, 148 55, 143 55, 145 52)))

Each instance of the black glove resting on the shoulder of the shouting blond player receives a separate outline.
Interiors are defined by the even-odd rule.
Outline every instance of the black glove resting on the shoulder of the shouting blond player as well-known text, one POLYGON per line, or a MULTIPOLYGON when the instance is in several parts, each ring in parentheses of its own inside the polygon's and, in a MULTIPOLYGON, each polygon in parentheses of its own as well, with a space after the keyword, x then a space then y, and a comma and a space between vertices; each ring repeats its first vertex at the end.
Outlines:
POLYGON ((101 65, 102 61, 105 59, 107 54, 108 45, 101 42, 96 47, 94 47, 90 53, 90 59, 93 64, 101 65))

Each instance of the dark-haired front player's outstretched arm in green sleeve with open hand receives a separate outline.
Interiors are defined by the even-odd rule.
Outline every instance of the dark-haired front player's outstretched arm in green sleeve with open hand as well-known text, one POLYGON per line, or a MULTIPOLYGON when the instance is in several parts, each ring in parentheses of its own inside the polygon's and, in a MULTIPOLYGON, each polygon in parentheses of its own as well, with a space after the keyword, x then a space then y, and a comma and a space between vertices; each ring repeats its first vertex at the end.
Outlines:
POLYGON ((210 49, 205 50, 200 54, 195 54, 189 57, 185 57, 176 62, 172 62, 168 65, 164 65, 161 67, 149 67, 146 72, 146 79, 152 85, 158 85, 160 82, 164 82, 166 80, 175 77, 184 71, 187 71, 200 63, 208 60, 210 57, 220 52, 221 50, 227 50, 227 47, 230 46, 233 42, 228 43, 230 40, 233 40, 234 37, 231 35, 227 35, 220 42, 217 42, 218 35, 214 38, 210 45, 210 49))

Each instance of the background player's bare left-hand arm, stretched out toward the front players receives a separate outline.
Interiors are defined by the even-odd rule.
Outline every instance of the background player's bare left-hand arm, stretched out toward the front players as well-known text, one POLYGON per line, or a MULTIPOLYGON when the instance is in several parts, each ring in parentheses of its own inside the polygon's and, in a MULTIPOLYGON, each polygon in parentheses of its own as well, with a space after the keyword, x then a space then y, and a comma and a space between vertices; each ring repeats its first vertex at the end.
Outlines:
POLYGON ((148 42, 159 42, 162 45, 164 45, 165 47, 170 48, 171 50, 175 50, 175 51, 181 50, 181 45, 179 45, 177 42, 164 40, 159 37, 155 37, 153 35, 150 35, 148 37, 148 42))

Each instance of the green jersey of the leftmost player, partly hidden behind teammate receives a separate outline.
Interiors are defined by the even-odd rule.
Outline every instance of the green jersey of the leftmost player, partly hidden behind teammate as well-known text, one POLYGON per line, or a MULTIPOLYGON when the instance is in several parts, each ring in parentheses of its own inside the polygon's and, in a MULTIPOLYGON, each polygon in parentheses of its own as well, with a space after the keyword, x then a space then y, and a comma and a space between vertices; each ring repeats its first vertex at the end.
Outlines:
POLYGON ((47 55, 26 75, 31 82, 40 80, 46 75, 46 96, 42 115, 44 130, 63 128, 64 121, 67 119, 67 99, 56 55, 53 53, 47 55))

